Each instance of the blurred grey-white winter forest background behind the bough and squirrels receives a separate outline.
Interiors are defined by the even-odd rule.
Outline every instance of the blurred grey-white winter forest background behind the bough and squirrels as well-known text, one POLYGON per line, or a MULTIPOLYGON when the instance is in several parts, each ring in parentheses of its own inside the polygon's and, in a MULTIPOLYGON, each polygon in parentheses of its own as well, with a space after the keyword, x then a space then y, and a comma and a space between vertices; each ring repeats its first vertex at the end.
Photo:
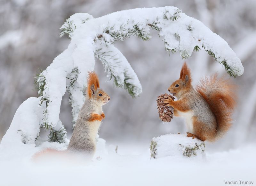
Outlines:
MULTIPOLYGON (((28 97, 38 97, 34 76, 67 48, 70 40, 59 38, 60 26, 77 12, 94 18, 111 12, 140 7, 176 6, 225 39, 244 66, 244 74, 233 79, 238 85, 238 107, 234 125, 228 135, 211 144, 210 149, 233 148, 247 141, 255 142, 256 132, 256 2, 254 0, 1 0, 0 1, 0 141, 11 124, 19 105, 28 97)), ((156 109, 156 97, 166 93, 179 77, 183 60, 179 54, 170 56, 161 38, 152 31, 152 39, 130 38, 116 43, 137 73, 143 93, 132 99, 123 89, 107 82, 102 64, 95 71, 101 86, 111 97, 103 107, 106 118, 100 137, 119 144, 148 143, 154 136, 170 132, 186 132, 183 119, 174 118, 163 124, 156 109)), ((200 77, 218 72, 229 77, 224 68, 206 52, 194 52, 186 60, 192 71, 193 83, 200 77)), ((62 99, 60 119, 71 137, 71 107, 68 95, 62 99)))

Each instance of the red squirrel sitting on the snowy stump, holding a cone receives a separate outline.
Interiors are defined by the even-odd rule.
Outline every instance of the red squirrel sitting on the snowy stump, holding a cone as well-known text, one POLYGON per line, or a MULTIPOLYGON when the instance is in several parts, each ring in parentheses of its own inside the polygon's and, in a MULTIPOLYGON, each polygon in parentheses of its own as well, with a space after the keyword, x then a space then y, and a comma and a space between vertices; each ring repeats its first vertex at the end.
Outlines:
POLYGON ((214 141, 222 137, 232 124, 232 112, 236 106, 235 85, 230 80, 217 78, 217 74, 205 77, 196 86, 191 85, 191 73, 184 63, 180 79, 168 88, 177 101, 168 98, 167 106, 174 108, 174 116, 186 118, 187 137, 214 141))

